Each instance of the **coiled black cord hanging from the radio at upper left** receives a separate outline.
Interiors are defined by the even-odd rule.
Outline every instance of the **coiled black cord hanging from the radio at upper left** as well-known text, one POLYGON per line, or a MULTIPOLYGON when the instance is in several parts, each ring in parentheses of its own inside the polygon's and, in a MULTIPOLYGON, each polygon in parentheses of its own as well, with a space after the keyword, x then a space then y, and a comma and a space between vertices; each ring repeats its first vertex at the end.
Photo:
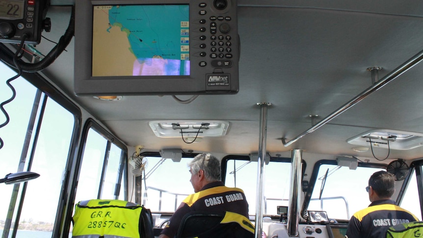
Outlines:
MULTIPOLYGON (((8 100, 6 100, 6 101, 4 101, 0 104, 0 110, 1 110, 1 112, 3 112, 4 116, 6 117, 6 121, 0 125, 0 128, 6 126, 10 121, 9 114, 7 114, 7 111, 4 109, 3 106, 12 102, 16 97, 16 90, 10 82, 19 78, 19 77, 21 77, 21 75, 22 75, 22 68, 18 63, 18 59, 20 59, 24 55, 24 51, 22 51, 22 48, 24 47, 26 37, 27 37, 26 34, 24 34, 22 36, 21 44, 19 45, 19 48, 17 49, 15 55, 13 55, 13 63, 15 64, 15 67, 18 70, 18 74, 13 76, 12 78, 6 80, 7 86, 9 86, 10 90, 12 90, 12 97, 10 97, 8 100), (21 51, 22 51, 22 53, 21 53, 21 51)), ((3 145, 4 145, 3 140, 0 137, 0 149, 3 148, 3 145)))

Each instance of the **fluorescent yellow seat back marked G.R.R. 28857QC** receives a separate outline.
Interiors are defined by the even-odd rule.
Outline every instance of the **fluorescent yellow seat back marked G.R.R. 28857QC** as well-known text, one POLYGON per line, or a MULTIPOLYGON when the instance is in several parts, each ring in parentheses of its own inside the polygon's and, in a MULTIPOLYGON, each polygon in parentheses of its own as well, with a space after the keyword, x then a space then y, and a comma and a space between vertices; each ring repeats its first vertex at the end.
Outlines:
POLYGON ((151 212, 127 201, 80 201, 72 222, 73 238, 154 238, 151 212))

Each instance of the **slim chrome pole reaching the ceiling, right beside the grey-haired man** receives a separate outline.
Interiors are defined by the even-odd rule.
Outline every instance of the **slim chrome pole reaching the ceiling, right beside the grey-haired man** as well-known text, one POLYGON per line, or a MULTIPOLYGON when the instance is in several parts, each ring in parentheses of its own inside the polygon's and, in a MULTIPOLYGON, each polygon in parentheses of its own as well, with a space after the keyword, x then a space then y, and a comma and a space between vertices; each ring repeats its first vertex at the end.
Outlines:
POLYGON ((266 135, 267 135, 267 106, 271 103, 258 103, 260 106, 260 133, 259 133, 259 160, 257 166, 257 191, 256 191, 256 230, 255 238, 262 238, 263 233, 263 207, 264 207, 264 160, 266 158, 266 135))

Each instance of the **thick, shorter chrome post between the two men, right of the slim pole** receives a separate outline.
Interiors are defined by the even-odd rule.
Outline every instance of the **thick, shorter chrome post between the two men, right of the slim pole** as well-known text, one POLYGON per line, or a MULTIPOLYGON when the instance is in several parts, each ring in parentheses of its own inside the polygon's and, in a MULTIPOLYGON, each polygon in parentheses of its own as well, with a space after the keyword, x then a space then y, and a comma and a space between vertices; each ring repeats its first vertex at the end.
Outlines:
POLYGON ((302 150, 292 150, 291 158, 291 189, 290 206, 288 208, 288 235, 296 237, 298 235, 298 216, 300 210, 301 192, 301 157, 302 150))

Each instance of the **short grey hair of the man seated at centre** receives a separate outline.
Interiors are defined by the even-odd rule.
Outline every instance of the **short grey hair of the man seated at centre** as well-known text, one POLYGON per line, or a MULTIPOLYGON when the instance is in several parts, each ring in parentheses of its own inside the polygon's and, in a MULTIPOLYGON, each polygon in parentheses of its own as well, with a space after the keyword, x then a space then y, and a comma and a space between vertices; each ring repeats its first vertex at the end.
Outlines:
POLYGON ((204 171, 204 177, 209 182, 220 181, 220 161, 211 154, 199 154, 192 159, 188 166, 191 174, 196 174, 200 169, 204 171))

